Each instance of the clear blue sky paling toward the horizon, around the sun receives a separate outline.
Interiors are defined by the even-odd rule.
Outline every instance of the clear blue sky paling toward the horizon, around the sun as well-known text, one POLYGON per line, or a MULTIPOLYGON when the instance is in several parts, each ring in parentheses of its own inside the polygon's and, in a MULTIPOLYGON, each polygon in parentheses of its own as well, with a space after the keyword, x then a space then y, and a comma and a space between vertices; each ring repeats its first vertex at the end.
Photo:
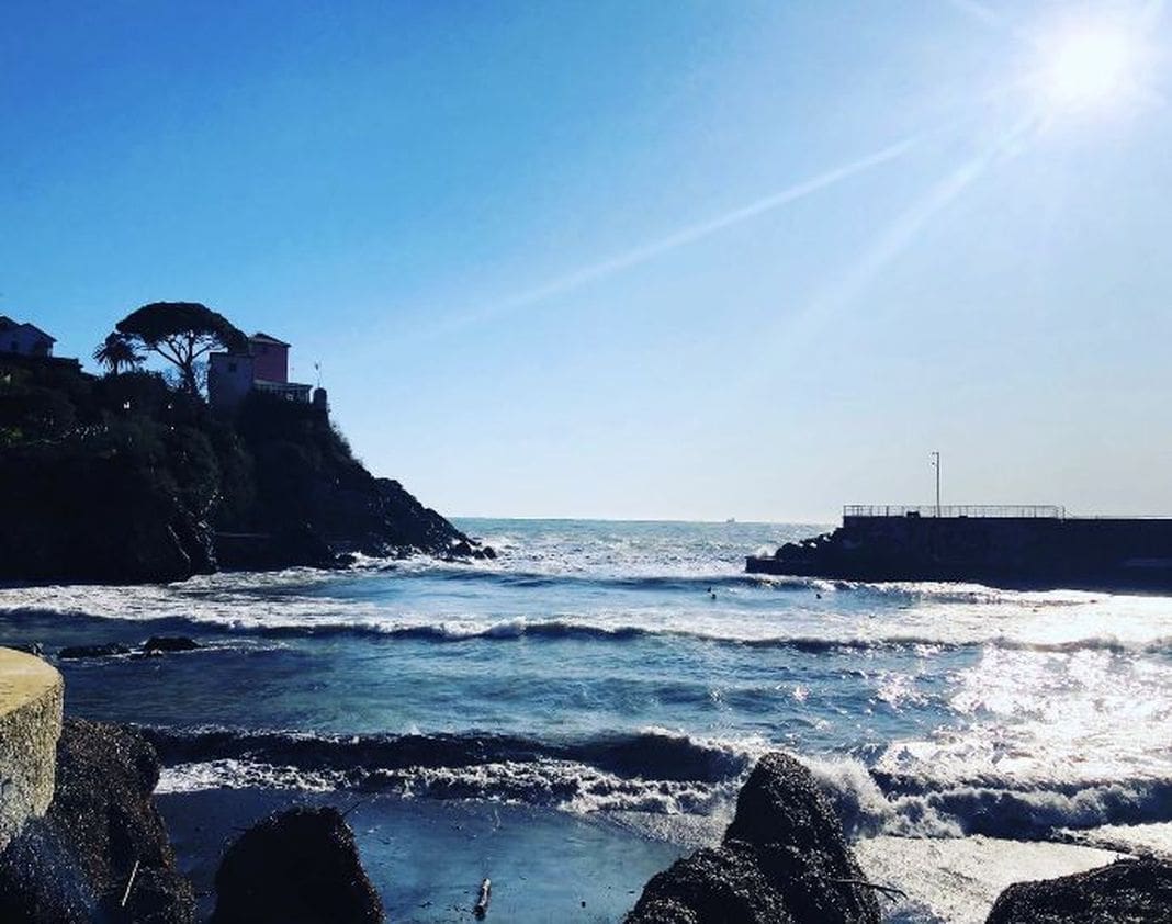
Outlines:
POLYGON ((289 340, 450 515, 829 522, 934 449, 948 502, 1172 512, 1168 20, 16 0, 0 313, 289 340), (1093 104, 1072 28, 1129 36, 1093 104))

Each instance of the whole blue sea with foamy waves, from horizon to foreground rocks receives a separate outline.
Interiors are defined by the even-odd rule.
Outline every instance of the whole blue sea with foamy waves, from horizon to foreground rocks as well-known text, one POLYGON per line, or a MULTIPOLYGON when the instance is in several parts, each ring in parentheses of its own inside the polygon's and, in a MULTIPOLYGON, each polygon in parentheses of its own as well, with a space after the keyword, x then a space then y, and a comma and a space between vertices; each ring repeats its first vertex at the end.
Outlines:
POLYGON ((292 804, 354 827, 389 916, 618 922, 797 755, 892 922, 1172 854, 1172 599, 743 573, 818 524, 461 519, 496 560, 0 587, 67 714, 143 727, 180 867, 292 804))

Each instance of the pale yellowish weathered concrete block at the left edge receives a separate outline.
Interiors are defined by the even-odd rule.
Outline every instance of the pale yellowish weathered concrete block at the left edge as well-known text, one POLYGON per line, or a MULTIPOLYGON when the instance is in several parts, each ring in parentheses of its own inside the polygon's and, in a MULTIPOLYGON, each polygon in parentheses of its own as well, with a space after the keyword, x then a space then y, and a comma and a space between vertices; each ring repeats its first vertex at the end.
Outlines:
POLYGON ((53 801, 63 698, 54 667, 0 648, 0 851, 53 801))

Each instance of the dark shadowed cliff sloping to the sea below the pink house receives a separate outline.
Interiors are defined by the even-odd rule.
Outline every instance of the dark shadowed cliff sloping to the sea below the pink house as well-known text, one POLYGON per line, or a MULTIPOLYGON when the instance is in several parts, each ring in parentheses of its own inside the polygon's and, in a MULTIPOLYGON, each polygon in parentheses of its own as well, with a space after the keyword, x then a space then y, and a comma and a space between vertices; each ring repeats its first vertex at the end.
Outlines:
POLYGON ((231 417, 149 373, 0 361, 0 579, 142 583, 338 555, 472 553, 354 458, 322 409, 231 417), (464 551, 466 550, 466 551, 464 551))

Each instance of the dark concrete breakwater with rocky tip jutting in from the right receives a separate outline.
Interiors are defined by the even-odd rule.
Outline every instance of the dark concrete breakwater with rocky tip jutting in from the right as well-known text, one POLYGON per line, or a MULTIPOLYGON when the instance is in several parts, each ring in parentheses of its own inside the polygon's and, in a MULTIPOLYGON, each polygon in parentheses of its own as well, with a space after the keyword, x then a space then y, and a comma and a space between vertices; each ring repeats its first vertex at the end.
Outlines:
POLYGON ((1170 518, 970 516, 963 510, 934 516, 932 508, 847 508, 833 532, 750 556, 745 570, 844 580, 1172 590, 1170 518))

